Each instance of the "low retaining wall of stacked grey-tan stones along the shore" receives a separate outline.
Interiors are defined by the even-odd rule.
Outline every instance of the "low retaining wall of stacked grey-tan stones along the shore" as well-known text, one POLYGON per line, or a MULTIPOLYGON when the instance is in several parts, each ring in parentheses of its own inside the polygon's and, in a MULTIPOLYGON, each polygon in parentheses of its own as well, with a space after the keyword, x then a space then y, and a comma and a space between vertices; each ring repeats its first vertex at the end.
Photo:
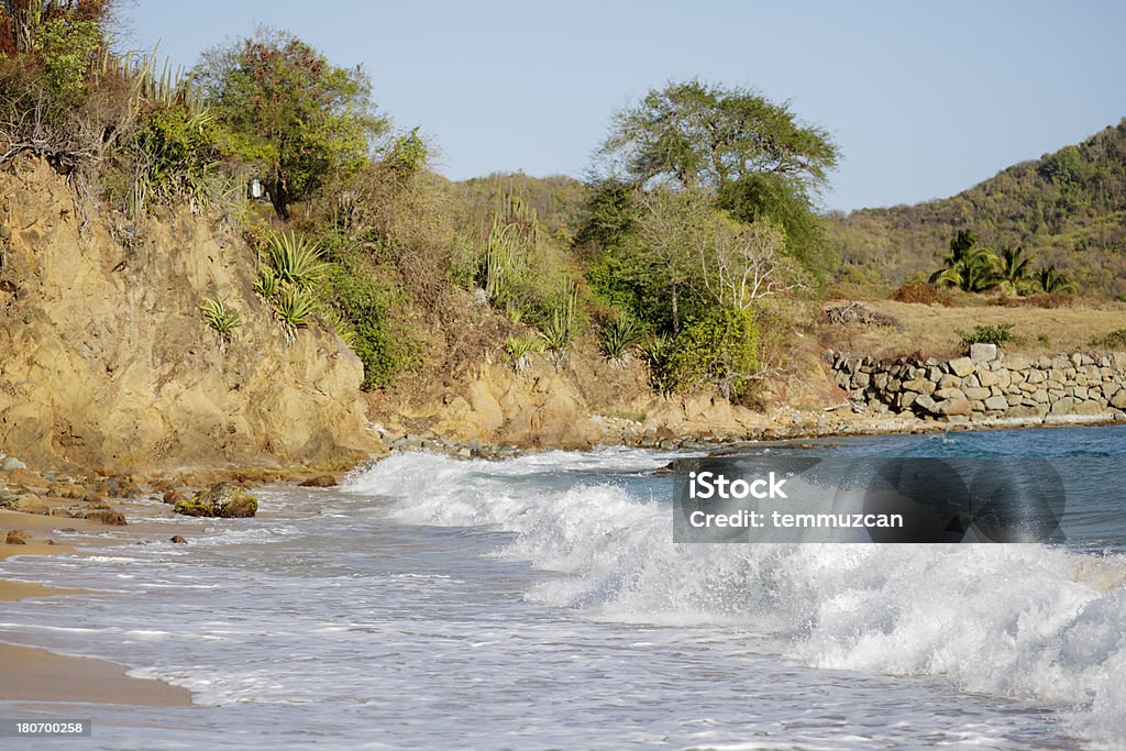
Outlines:
POLYGON ((971 357, 949 360, 828 356, 833 381, 849 399, 881 412, 948 422, 1126 419, 1126 352, 1029 357, 975 345, 971 357))

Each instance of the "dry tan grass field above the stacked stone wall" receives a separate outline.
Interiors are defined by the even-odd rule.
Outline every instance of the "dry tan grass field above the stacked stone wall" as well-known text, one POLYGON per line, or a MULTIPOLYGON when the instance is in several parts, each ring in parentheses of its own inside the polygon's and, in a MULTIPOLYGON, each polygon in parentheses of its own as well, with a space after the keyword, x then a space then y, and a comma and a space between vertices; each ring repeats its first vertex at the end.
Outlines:
MULTIPOLYGON (((1126 350, 1126 341, 1107 347, 1107 334, 1123 331, 1126 338, 1126 305, 1102 301, 1074 299, 1060 307, 983 304, 981 298, 955 301, 955 305, 922 305, 890 299, 860 299, 865 307, 894 320, 894 325, 874 323, 819 324, 822 346, 877 357, 920 354, 948 357, 962 352, 958 331, 977 325, 1011 324, 1018 341, 1002 349, 1027 354, 1098 352, 1126 350)), ((847 304, 832 299, 824 309, 847 304)))

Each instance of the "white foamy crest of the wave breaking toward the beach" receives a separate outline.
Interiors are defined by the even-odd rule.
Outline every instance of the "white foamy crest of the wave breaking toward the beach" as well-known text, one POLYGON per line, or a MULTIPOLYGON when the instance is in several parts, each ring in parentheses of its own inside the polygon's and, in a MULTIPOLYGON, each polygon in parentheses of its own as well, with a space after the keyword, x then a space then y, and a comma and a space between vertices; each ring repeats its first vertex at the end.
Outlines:
POLYGON ((668 456, 551 453, 509 462, 395 455, 343 490, 408 524, 516 534, 502 555, 568 574, 529 597, 626 623, 742 624, 830 669, 942 676, 1074 707, 1126 745, 1126 565, 1037 545, 674 545, 670 507, 562 472, 645 471, 668 456), (543 482, 529 479, 543 476, 543 482))

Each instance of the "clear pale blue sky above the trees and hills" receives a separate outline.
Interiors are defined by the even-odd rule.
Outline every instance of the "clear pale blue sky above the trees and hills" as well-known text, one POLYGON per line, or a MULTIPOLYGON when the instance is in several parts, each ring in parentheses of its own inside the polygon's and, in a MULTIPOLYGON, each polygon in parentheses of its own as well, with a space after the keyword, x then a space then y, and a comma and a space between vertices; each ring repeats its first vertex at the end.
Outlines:
POLYGON ((1126 3, 134 0, 190 65, 266 23, 363 63, 437 169, 582 177, 611 114, 698 77, 789 101, 843 152, 828 208, 953 195, 1126 116, 1126 3))

